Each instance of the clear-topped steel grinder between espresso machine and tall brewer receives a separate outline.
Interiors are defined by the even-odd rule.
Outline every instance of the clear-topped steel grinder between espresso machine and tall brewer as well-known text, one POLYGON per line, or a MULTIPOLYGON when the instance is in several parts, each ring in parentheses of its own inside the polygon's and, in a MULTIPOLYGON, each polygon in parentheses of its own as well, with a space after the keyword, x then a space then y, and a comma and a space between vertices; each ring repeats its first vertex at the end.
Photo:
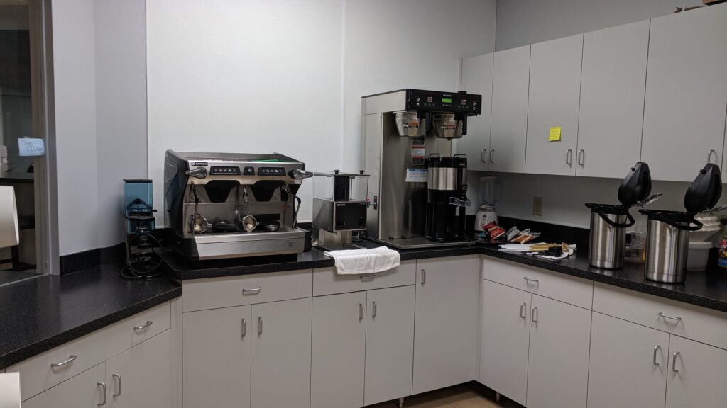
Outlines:
POLYGON ((353 232, 366 230, 366 192, 369 175, 313 173, 313 238, 312 245, 324 250, 358 248, 353 245, 353 232))

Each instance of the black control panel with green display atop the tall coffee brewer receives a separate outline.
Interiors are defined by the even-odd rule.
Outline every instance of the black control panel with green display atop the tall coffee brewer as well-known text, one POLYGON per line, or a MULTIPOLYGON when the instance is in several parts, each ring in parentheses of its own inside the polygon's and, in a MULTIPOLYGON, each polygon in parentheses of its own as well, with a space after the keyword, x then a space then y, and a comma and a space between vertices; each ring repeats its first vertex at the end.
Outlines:
POLYGON ((480 115, 482 113, 482 95, 467 94, 462 91, 439 92, 407 89, 406 110, 480 115))

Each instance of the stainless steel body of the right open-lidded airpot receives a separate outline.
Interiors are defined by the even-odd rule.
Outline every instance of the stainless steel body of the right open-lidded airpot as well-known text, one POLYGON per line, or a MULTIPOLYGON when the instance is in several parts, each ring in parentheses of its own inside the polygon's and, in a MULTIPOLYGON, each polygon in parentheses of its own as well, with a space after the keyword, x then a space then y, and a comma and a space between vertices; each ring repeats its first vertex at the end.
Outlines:
POLYGON ((684 282, 688 249, 688 231, 649 219, 646 223, 646 277, 656 282, 684 282))

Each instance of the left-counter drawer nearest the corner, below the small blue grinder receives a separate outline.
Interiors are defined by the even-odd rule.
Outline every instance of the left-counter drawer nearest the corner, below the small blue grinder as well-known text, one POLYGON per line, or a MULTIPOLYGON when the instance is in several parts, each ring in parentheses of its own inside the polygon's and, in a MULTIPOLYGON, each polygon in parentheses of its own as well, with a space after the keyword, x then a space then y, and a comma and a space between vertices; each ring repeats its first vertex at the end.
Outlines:
POLYGON ((106 343, 106 358, 169 329, 171 314, 170 303, 166 302, 100 330, 106 343))

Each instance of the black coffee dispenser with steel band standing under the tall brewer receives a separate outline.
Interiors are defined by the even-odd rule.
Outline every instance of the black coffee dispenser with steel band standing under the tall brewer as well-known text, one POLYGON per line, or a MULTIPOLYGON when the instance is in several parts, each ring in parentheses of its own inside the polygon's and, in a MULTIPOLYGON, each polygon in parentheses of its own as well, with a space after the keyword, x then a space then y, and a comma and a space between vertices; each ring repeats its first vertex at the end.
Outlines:
POLYGON ((467 200, 467 156, 442 156, 427 160, 427 240, 465 241, 467 200))

